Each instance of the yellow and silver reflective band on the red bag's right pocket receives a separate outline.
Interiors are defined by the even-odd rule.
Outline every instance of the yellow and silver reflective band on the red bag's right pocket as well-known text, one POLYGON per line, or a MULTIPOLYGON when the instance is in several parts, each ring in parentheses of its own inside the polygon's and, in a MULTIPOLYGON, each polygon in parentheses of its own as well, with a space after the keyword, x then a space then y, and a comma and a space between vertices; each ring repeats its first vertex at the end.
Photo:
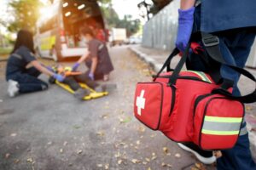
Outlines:
POLYGON ((239 134, 241 122, 241 117, 205 116, 201 133, 236 135, 239 134))

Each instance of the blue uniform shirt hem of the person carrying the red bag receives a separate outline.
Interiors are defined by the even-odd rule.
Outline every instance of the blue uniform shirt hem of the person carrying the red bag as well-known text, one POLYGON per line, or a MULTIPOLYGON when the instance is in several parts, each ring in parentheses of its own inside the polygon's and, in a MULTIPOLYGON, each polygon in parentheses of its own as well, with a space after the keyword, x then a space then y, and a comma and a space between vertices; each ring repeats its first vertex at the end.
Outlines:
POLYGON ((201 31, 251 26, 256 26, 256 0, 201 0, 201 31))

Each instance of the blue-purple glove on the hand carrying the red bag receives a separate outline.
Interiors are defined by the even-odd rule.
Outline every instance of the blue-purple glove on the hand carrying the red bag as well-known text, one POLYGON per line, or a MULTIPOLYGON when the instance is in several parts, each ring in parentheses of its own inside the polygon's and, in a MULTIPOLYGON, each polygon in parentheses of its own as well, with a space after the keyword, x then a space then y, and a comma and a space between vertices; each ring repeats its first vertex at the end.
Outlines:
POLYGON ((175 45, 181 52, 184 52, 192 33, 194 12, 195 7, 186 10, 178 9, 178 27, 175 45))

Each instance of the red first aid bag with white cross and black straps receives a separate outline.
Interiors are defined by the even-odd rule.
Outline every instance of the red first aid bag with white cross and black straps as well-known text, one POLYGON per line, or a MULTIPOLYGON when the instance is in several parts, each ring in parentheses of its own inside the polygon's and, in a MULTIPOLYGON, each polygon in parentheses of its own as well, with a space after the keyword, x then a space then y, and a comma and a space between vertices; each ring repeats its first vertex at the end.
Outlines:
MULTIPOLYGON (((138 82, 134 115, 153 130, 160 130, 176 142, 194 142, 204 150, 230 149, 238 139, 244 105, 255 100, 256 91, 234 97, 212 77, 201 71, 181 71, 188 49, 175 70, 168 69, 174 49, 153 82, 138 82), (241 102, 242 101, 242 102, 241 102)), ((230 66, 232 68, 232 66, 230 66)), ((245 70, 236 68, 254 82, 245 70)))

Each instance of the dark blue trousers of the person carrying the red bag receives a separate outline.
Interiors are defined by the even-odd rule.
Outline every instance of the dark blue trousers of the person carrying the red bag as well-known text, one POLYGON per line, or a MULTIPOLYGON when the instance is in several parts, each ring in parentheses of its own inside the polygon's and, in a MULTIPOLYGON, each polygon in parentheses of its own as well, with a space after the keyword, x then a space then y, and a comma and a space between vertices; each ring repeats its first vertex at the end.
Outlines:
MULTIPOLYGON (((219 34, 219 47, 225 61, 229 64, 244 67, 247 57, 250 53, 255 34, 246 29, 240 32, 230 32, 229 34, 219 34)), ((235 82, 234 95, 240 95, 237 88, 237 82, 240 75, 227 66, 221 67, 221 75, 224 78, 231 79, 235 82)), ((246 127, 246 122, 243 123, 241 129, 246 127)), ((230 150, 222 150, 223 156, 217 160, 218 170, 237 169, 237 170, 256 170, 256 164, 253 162, 248 133, 239 136, 239 139, 234 148, 230 150)))

